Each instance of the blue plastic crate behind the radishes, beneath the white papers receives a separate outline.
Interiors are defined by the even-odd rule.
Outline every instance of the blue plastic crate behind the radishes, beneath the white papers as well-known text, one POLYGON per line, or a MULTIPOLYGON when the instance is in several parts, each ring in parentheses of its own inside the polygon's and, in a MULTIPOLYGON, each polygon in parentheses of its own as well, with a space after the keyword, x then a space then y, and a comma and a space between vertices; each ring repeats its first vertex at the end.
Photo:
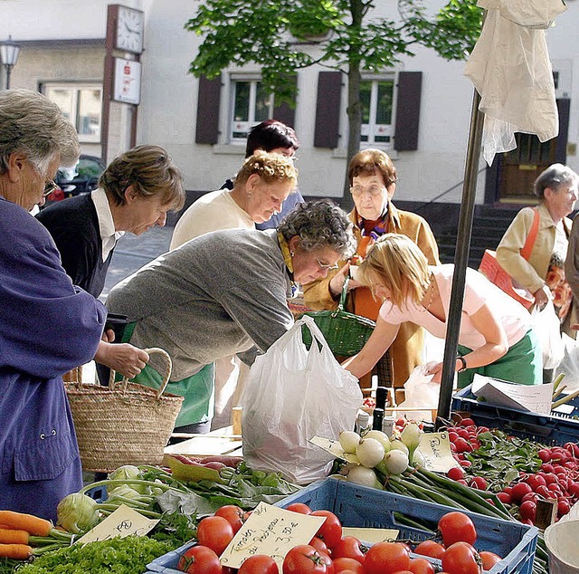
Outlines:
POLYGON ((515 408, 495 407, 477 400, 470 386, 458 391, 452 397, 452 410, 469 413, 478 426, 498 428, 509 435, 529 438, 542 445, 565 445, 579 440, 579 397, 569 402, 574 407, 573 413, 563 415, 551 413, 551 416, 537 415, 515 408))

